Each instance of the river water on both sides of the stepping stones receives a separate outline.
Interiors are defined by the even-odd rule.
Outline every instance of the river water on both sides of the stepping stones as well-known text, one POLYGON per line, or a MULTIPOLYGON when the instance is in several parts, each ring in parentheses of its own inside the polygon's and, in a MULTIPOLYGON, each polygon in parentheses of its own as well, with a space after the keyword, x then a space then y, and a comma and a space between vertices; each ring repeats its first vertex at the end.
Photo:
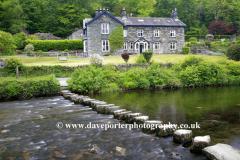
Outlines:
MULTIPOLYGON (((240 86, 164 91, 131 91, 90 95, 164 123, 200 123, 193 136, 210 135, 212 144, 226 143, 240 149, 240 86)), ((57 129, 58 122, 76 124, 119 123, 62 96, 0 102, 0 159, 170 159, 176 152, 183 159, 205 159, 189 148, 140 129, 57 129), (98 154, 90 153, 98 146, 98 154), (115 147, 126 156, 114 155, 115 147)), ((124 122, 120 122, 124 123, 124 122)))

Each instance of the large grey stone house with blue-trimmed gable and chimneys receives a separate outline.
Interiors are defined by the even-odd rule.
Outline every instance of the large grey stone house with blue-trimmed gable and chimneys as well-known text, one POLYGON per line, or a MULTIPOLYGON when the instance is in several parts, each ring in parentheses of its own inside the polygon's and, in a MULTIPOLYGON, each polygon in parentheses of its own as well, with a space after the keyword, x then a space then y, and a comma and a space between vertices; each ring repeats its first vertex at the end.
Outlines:
POLYGON ((154 54, 182 52, 185 45, 184 27, 178 19, 177 9, 172 11, 171 18, 132 17, 125 8, 122 17, 112 16, 108 9, 96 9, 95 18, 83 20, 84 54, 104 55, 110 53, 108 37, 119 24, 123 25, 124 45, 117 51, 136 54, 145 50, 153 50, 154 54))

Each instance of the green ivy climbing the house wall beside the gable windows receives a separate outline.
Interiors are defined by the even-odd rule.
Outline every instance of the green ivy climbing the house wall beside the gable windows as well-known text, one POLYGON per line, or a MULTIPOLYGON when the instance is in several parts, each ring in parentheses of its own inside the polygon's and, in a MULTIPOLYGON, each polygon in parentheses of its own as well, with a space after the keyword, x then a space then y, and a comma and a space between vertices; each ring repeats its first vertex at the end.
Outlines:
POLYGON ((119 24, 118 27, 112 31, 112 33, 108 37, 111 53, 114 53, 116 50, 120 49, 124 43, 123 37, 123 26, 119 24))

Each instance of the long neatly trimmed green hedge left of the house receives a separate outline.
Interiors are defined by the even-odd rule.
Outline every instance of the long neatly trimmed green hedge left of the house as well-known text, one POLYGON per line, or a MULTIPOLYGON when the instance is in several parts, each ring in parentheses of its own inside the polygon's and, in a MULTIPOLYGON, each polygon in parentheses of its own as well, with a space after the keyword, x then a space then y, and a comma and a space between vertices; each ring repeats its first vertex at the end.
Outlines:
POLYGON ((76 50, 83 48, 83 41, 77 40, 26 40, 26 44, 33 44, 35 50, 76 50))

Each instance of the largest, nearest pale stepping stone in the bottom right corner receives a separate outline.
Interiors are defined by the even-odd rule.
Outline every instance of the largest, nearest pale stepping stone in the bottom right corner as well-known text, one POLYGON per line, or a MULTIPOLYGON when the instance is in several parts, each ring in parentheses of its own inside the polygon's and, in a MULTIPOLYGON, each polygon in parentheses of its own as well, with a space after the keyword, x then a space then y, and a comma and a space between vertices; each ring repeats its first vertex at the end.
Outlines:
POLYGON ((206 147, 202 154, 210 160, 239 160, 240 151, 230 145, 218 143, 214 146, 206 147))

